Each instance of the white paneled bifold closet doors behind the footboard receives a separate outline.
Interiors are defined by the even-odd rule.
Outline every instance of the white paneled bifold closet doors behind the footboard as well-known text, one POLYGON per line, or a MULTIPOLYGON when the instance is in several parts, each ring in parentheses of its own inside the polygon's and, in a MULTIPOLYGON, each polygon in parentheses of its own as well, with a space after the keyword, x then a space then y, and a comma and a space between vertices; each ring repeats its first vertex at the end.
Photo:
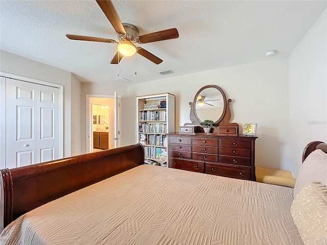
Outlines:
POLYGON ((60 157, 59 88, 6 79, 6 167, 60 157))

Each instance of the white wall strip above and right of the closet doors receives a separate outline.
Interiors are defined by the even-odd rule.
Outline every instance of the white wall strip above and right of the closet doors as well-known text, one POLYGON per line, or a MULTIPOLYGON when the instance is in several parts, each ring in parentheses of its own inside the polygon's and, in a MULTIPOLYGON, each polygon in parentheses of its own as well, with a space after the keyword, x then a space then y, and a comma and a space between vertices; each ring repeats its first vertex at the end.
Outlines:
MULTIPOLYGON (((64 157, 71 156, 71 106, 75 94, 71 88, 71 72, 42 64, 5 51, 0 51, 0 71, 45 82, 63 85, 64 103, 64 157)), ((74 86, 78 87, 74 80, 74 86)), ((79 95, 78 95, 79 96, 79 95)), ((77 99, 78 100, 78 99, 77 99)), ((75 110, 79 110, 77 107, 75 110)))

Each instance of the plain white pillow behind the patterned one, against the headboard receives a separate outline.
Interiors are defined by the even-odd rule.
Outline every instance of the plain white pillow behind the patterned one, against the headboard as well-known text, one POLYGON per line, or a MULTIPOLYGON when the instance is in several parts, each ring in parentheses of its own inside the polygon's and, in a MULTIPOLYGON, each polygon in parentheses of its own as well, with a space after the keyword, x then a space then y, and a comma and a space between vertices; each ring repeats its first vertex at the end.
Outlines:
POLYGON ((327 185, 327 154, 317 149, 309 154, 303 161, 298 176, 296 178, 293 196, 308 185, 311 181, 319 181, 327 185))

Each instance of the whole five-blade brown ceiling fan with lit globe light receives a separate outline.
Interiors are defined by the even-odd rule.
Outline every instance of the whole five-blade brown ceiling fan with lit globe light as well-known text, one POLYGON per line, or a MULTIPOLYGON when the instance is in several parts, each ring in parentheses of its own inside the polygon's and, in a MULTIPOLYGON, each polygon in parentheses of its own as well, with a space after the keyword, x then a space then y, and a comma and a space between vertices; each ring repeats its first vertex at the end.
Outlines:
POLYGON ((66 37, 72 40, 94 41, 94 42, 108 42, 117 44, 117 53, 111 60, 111 64, 118 64, 124 56, 132 56, 135 53, 142 55, 155 64, 160 64, 162 60, 157 56, 146 51, 142 47, 135 46, 134 43, 143 44, 149 42, 156 42, 168 39, 178 38, 179 34, 176 28, 153 32, 141 36, 138 35, 138 30, 135 26, 129 23, 122 23, 112 2, 110 0, 96 0, 103 13, 107 16, 113 29, 116 31, 119 41, 99 37, 87 37, 66 34, 66 37))

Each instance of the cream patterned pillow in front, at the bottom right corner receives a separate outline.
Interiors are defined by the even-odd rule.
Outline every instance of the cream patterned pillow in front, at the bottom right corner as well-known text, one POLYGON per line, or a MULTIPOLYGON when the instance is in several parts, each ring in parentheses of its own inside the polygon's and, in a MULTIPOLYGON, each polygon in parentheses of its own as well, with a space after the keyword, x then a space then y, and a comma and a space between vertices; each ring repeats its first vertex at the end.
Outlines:
POLYGON ((296 195, 291 215, 303 243, 327 244, 327 188, 311 182, 296 195))

